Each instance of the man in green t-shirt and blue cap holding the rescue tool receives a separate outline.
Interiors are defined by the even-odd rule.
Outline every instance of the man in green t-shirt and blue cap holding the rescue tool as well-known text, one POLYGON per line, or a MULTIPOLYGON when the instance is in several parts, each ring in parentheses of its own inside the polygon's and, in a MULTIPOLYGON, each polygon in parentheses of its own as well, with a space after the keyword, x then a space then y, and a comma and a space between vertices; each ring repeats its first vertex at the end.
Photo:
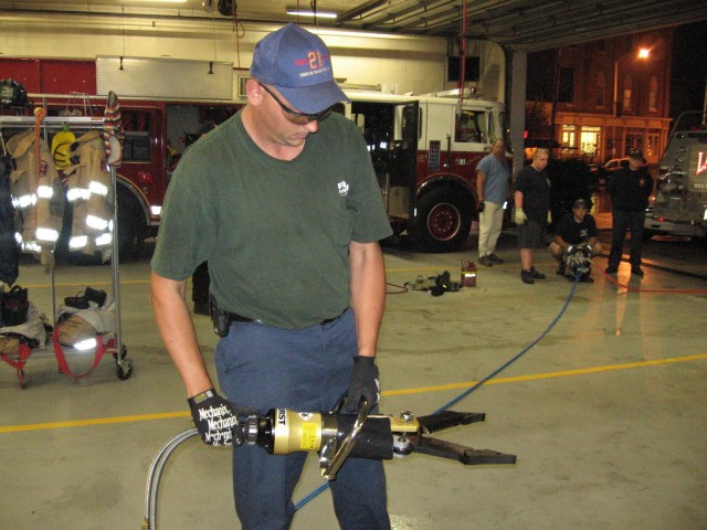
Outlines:
MULTIPOLYGON (((321 39, 295 24, 270 33, 251 74, 247 105, 188 149, 170 181, 151 297, 202 439, 233 445, 242 527, 283 530, 306 454, 239 446, 235 417, 329 411, 345 393, 348 412, 361 398, 378 403, 379 241, 392 230, 361 134, 330 112, 347 98, 321 39), (228 399, 214 390, 186 300, 205 259, 228 399)), ((342 528, 390 528, 380 462, 349 458, 330 484, 342 528)))

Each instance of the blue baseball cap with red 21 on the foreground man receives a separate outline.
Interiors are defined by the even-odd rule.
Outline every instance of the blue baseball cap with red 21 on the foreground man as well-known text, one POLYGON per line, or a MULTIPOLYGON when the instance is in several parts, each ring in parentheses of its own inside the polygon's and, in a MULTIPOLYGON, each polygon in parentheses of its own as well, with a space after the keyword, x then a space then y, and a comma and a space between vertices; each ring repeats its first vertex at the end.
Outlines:
POLYGON ((293 23, 255 45, 251 74, 277 88, 300 113, 316 114, 349 102, 334 81, 331 55, 324 41, 293 23))

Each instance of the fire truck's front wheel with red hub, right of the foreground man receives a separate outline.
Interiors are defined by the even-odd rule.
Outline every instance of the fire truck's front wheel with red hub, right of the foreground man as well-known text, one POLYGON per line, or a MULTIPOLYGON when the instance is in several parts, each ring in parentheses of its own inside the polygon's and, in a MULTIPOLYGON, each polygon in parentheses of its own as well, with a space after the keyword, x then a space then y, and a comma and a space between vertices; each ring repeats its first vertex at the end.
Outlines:
POLYGON ((424 252, 457 251, 468 237, 472 201, 450 188, 437 188, 418 201, 410 235, 424 252))

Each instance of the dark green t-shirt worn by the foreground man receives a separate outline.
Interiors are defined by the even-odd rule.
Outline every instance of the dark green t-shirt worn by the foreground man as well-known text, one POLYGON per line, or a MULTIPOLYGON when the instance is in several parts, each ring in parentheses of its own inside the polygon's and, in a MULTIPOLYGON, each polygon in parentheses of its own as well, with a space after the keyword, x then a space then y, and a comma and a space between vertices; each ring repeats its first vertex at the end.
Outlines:
POLYGON ((181 158, 151 266, 183 280, 208 261, 223 309, 302 329, 348 306, 349 243, 391 232, 352 121, 333 114, 284 161, 253 142, 239 113, 181 158))

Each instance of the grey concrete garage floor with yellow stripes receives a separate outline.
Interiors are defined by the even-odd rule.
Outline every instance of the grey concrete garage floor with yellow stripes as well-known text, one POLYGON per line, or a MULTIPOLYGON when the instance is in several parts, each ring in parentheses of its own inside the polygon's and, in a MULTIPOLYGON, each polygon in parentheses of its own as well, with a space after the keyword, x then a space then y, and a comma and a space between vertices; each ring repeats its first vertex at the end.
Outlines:
MULTIPOLYGON (((594 284, 572 290, 541 252, 537 268, 548 279, 525 285, 515 240, 504 235, 506 264, 479 269, 476 287, 441 297, 397 287, 420 274, 456 276, 462 258, 477 261, 473 246, 439 255, 386 248, 394 285, 380 338, 382 412, 423 415, 445 405, 540 337, 571 301, 525 356, 454 405, 486 412, 485 423, 436 434, 517 454, 517 464, 465 467, 423 455, 388 462, 393 527, 707 529, 705 282, 653 268, 639 282, 624 265, 618 285, 601 273, 600 257, 594 284)), ((148 466, 190 426, 152 324, 148 274, 147 259, 120 265, 129 380, 116 378, 110 358, 72 380, 38 353, 20 390, 14 370, 0 365, 2 528, 141 526, 148 466)), ((60 299, 86 285, 109 289, 108 267, 59 266, 55 276, 60 299)), ((50 311, 42 266, 23 265, 19 283, 50 311)), ((209 320, 196 322, 212 358, 209 320)), ((228 449, 196 438, 182 444, 159 490, 159 528, 239 528, 230 480, 228 449)), ((295 500, 321 484, 313 455, 295 500)), ((303 506, 293 528, 337 528, 329 492, 303 506)))

